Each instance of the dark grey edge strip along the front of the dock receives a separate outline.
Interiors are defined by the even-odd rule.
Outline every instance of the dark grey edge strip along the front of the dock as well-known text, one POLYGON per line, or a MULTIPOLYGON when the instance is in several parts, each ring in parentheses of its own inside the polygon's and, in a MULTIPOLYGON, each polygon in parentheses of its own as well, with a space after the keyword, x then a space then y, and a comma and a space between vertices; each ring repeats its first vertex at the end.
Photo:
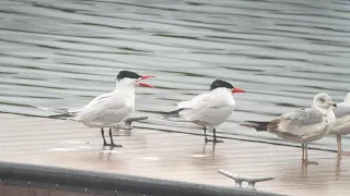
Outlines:
POLYGON ((150 195, 190 195, 190 196, 275 196, 277 194, 230 188, 206 184, 185 183, 105 172, 92 172, 35 164, 0 161, 0 179, 27 181, 52 186, 78 186, 82 188, 104 189, 105 192, 126 192, 150 195))

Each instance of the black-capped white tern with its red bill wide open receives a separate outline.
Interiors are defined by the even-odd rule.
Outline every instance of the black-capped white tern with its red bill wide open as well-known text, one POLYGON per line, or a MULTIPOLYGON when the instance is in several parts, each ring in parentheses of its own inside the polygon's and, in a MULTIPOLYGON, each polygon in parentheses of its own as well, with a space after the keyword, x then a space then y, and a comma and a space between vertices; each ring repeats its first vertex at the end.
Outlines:
MULTIPOLYGON (((101 127, 104 146, 121 147, 114 144, 112 127, 118 126, 129 119, 135 111, 135 86, 151 87, 152 85, 141 83, 143 79, 155 77, 151 75, 139 75, 131 71, 120 71, 117 75, 115 90, 95 97, 91 102, 82 108, 72 108, 63 111, 62 115, 68 115, 68 120, 83 123, 89 127, 101 127), (110 144, 106 143, 104 127, 109 127, 110 144)), ((61 110, 42 108, 54 112, 61 110)))

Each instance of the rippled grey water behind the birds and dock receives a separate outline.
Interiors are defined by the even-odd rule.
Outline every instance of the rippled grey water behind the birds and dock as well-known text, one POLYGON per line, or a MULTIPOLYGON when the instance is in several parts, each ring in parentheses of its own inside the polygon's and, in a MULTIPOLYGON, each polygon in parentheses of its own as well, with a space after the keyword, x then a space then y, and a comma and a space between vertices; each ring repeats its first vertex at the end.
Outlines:
MULTIPOLYGON (((234 96, 220 135, 282 143, 238 122, 310 107, 322 91, 339 102, 350 90, 346 0, 2 0, 0 46, 0 110, 14 113, 83 106, 132 70, 158 76, 155 89, 137 89, 135 115, 150 117, 139 125, 201 133, 156 112, 221 78, 248 93, 234 96)), ((316 145, 336 149, 336 139, 316 145)))

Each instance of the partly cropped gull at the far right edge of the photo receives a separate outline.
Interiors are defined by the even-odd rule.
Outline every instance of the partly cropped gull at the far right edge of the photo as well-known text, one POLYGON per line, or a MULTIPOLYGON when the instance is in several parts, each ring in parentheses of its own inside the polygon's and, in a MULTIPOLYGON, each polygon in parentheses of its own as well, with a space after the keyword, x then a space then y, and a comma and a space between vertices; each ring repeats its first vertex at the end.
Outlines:
POLYGON ((336 122, 329 128, 329 133, 337 135, 338 155, 350 156, 349 151, 341 151, 341 135, 350 134, 350 93, 346 96, 345 101, 340 102, 332 111, 336 115, 336 122))

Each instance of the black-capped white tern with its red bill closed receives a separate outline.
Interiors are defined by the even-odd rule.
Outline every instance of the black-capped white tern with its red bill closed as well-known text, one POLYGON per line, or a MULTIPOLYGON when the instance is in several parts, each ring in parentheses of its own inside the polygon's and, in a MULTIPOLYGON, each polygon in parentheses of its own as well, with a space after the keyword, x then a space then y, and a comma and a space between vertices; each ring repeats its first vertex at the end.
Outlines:
POLYGON ((217 127, 222 124, 232 113, 235 101, 232 97, 234 93, 245 93, 245 90, 233 87, 232 84, 217 79, 210 86, 210 93, 198 95, 189 101, 177 103, 178 110, 168 114, 178 113, 186 121, 203 126, 206 142, 220 143, 217 139, 217 127), (208 139, 207 127, 213 132, 213 139, 208 139))

